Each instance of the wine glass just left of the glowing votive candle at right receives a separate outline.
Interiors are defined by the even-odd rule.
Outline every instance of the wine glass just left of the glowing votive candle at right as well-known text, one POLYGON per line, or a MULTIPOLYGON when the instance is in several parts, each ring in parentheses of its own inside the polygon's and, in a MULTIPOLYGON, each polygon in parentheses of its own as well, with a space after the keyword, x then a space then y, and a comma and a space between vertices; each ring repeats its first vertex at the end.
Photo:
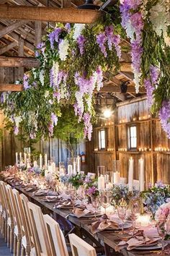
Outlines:
POLYGON ((133 234, 135 233, 135 221, 140 216, 140 202, 139 200, 131 200, 130 202, 130 213, 133 221, 133 234))

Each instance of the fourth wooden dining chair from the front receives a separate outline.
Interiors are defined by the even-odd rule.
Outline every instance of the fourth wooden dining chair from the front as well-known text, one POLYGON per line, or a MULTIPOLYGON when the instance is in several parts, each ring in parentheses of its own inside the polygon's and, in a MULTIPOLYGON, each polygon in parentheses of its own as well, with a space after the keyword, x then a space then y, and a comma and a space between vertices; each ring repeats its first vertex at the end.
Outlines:
POLYGON ((37 251, 37 246, 36 246, 36 239, 35 239, 35 232, 34 229, 32 228, 32 221, 31 221, 31 216, 30 216, 30 209, 28 207, 28 197, 24 194, 20 194, 20 198, 22 200, 22 208, 23 208, 23 213, 24 213, 24 218, 26 220, 26 225, 27 225, 27 232, 30 237, 30 246, 31 246, 31 255, 38 255, 37 251))

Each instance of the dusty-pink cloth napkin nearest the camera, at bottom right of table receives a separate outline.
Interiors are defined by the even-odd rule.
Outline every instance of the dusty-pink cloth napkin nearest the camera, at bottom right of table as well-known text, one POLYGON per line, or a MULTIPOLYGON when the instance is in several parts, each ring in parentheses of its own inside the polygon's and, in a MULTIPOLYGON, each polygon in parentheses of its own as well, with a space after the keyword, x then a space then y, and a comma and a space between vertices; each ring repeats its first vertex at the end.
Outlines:
POLYGON ((120 249, 125 247, 127 247, 128 251, 130 251, 140 246, 155 244, 158 240, 160 240, 160 237, 157 237, 157 238, 148 237, 148 236, 132 237, 127 242, 121 241, 119 244, 117 244, 117 246, 115 247, 115 251, 120 252, 120 249))

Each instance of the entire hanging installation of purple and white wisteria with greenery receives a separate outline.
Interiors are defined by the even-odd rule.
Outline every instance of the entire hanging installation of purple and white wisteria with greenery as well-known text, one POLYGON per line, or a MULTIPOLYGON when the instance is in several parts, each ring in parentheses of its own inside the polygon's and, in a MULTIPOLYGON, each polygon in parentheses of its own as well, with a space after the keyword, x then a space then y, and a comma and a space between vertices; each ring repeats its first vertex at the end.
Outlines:
POLYGON ((50 29, 35 51, 40 67, 24 74, 24 91, 1 95, 15 134, 22 127, 32 138, 56 136, 58 122, 66 123, 63 111, 71 109, 75 130, 91 140, 94 91, 103 86, 103 72, 118 72, 125 36, 130 39, 136 93, 145 86, 151 111, 170 138, 169 7, 169 0, 120 0, 111 10, 119 16, 114 22, 104 14, 94 25, 50 29))

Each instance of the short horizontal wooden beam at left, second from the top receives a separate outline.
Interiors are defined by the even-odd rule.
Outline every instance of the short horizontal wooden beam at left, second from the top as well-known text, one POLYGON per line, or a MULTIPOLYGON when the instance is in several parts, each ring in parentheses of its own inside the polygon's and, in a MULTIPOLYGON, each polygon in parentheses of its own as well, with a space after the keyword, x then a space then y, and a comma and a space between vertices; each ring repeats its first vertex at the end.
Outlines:
POLYGON ((39 67, 39 61, 27 57, 5 57, 0 56, 0 67, 39 67))

